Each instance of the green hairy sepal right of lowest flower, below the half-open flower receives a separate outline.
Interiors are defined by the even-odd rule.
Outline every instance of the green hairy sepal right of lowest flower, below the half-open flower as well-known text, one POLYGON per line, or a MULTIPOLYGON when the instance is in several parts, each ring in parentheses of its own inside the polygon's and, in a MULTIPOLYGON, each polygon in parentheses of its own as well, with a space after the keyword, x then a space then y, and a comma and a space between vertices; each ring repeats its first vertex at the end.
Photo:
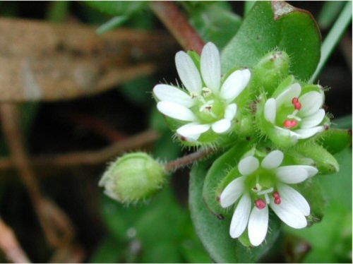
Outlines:
POLYGON ((305 158, 313 160, 320 174, 331 174, 340 170, 340 164, 338 164, 335 157, 317 143, 301 143, 296 145, 294 150, 289 153, 299 159, 305 158))

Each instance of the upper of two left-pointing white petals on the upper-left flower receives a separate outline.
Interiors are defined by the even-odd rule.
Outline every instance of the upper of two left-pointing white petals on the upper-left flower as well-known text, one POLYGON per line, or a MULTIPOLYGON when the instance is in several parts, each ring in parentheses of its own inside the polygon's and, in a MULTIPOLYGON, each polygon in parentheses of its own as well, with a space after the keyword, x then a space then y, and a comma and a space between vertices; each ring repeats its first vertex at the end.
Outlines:
POLYGON ((195 104, 195 101, 191 99, 190 95, 171 85, 155 85, 155 88, 153 88, 153 93, 160 101, 175 102, 188 108, 195 104))

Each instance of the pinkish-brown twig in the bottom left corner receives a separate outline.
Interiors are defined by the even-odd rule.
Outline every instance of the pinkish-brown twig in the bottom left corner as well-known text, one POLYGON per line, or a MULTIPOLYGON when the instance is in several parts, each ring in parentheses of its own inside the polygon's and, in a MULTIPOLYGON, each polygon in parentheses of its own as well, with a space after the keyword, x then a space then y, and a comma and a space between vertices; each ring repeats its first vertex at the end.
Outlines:
POLYGON ((30 263, 25 251, 20 247, 15 234, 0 218, 0 249, 12 263, 30 263))

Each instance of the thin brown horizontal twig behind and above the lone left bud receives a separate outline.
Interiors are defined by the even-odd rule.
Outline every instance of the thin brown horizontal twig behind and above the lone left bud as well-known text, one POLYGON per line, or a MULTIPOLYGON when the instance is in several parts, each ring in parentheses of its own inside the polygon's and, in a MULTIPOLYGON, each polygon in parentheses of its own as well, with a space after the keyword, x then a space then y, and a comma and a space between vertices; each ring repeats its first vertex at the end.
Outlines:
MULTIPOLYGON (((145 145, 155 142, 158 138, 160 138, 160 133, 148 130, 109 145, 109 147, 103 148, 102 150, 73 152, 64 155, 37 156, 30 158, 30 163, 34 167, 72 167, 102 164, 122 152, 142 148, 145 145)), ((0 159, 0 170, 11 169, 13 166, 13 160, 9 158, 0 159)))

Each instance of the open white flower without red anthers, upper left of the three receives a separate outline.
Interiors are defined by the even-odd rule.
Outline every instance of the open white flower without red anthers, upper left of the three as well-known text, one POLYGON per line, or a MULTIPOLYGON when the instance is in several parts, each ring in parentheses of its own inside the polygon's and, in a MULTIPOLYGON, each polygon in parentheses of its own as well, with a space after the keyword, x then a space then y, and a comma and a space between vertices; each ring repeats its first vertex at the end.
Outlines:
POLYGON ((177 129, 177 133, 187 140, 198 140, 211 128, 215 133, 227 132, 237 114, 234 100, 248 85, 250 71, 234 71, 221 82, 220 53, 211 42, 203 47, 201 73, 185 52, 176 54, 175 64, 186 90, 156 85, 153 92, 160 100, 157 109, 166 116, 187 122, 177 129))

